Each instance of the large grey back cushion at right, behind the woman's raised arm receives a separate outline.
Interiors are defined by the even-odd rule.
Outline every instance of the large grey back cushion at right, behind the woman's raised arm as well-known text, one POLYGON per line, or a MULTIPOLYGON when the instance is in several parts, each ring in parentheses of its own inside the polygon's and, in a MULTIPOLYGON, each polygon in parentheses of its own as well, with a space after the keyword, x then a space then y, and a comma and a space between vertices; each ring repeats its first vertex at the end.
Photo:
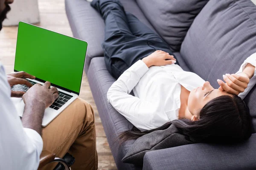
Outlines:
MULTIPOLYGON (((236 73, 242 62, 256 52, 256 6, 250 0, 209 0, 182 43, 186 65, 218 88, 217 79, 236 73)), ((256 132, 256 90, 245 99, 256 132)))

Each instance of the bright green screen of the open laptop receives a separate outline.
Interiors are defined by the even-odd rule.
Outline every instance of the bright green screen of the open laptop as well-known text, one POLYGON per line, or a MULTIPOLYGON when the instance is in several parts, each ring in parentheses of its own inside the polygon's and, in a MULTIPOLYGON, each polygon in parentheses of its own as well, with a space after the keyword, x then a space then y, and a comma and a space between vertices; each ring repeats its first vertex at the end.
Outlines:
POLYGON ((20 22, 15 71, 79 93, 87 42, 20 22))

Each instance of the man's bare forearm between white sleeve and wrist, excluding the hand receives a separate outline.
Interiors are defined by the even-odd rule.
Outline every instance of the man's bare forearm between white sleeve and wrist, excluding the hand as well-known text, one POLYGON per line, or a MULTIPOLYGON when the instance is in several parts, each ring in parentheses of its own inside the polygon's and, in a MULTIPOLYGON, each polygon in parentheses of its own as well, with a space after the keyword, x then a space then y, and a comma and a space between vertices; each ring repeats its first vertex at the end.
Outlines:
POLYGON ((44 111, 44 105, 33 105, 32 103, 26 104, 21 120, 23 127, 33 129, 41 135, 44 111))

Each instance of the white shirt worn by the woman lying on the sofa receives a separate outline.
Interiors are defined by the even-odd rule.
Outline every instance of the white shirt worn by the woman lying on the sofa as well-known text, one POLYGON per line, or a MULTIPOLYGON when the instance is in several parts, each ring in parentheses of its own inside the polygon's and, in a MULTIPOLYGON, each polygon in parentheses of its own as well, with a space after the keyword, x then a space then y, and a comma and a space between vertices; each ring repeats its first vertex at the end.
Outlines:
MULTIPOLYGON (((256 53, 241 65, 243 71, 247 63, 256 66, 256 53)), ((256 72, 247 89, 239 94, 244 97, 256 83, 256 72)), ((150 130, 178 119, 180 110, 180 85, 192 91, 204 84, 197 74, 184 71, 179 65, 152 66, 141 60, 128 68, 108 90, 108 101, 128 121, 140 130, 150 130), (131 91, 134 96, 130 95, 131 91)))

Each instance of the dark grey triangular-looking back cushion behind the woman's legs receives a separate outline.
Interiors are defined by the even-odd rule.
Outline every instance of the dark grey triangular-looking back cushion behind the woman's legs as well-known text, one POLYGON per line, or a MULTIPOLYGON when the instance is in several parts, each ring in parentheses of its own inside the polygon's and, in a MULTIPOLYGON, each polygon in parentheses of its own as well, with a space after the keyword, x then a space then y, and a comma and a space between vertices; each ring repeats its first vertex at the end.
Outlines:
POLYGON ((209 0, 137 0, 138 6, 156 31, 180 51, 193 20, 209 0))

